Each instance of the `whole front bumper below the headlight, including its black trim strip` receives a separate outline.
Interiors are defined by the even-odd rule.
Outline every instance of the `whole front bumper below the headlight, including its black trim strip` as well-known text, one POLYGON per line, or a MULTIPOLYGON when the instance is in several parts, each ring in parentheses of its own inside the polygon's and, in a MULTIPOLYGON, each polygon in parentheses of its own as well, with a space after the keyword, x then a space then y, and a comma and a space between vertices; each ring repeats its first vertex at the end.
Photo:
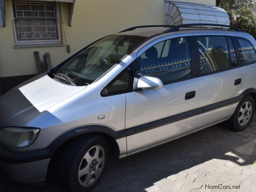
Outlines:
POLYGON ((49 161, 58 146, 34 151, 14 152, 0 145, 0 173, 17 183, 46 179, 49 161))

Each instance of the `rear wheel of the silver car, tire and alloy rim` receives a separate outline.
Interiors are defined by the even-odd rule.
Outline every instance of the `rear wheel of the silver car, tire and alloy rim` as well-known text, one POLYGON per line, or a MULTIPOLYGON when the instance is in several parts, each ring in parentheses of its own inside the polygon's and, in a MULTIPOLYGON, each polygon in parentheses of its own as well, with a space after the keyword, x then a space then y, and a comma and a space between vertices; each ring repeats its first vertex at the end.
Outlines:
POLYGON ((255 111, 255 101, 251 95, 246 95, 236 107, 229 120, 229 126, 234 131, 243 131, 252 122, 255 111))

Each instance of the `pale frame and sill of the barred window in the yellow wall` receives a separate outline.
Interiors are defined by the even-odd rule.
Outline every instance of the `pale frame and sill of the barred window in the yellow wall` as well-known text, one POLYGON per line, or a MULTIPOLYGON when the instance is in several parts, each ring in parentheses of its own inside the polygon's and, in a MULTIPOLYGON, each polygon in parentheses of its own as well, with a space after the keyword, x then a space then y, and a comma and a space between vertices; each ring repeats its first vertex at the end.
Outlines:
POLYGON ((62 37, 61 37, 61 32, 60 32, 60 30, 61 30, 61 28, 60 28, 60 4, 59 4, 59 2, 53 2, 53 3, 55 3, 56 4, 56 17, 57 17, 57 28, 58 28, 58 36, 59 36, 59 39, 58 40, 34 40, 34 41, 28 41, 28 40, 26 40, 26 41, 18 41, 18 39, 17 39, 17 32, 16 32, 16 28, 15 28, 15 21, 14 21, 14 19, 16 19, 16 18, 14 18, 14 15, 13 15, 13 3, 36 3, 36 4, 44 4, 44 3, 47 3, 47 2, 45 2, 45 1, 33 1, 33 0, 31 0, 31 1, 13 1, 13 0, 10 0, 10 4, 11 4, 11 6, 10 6, 10 8, 11 8, 11 17, 12 17, 12 28, 13 28, 13 36, 14 36, 14 46, 19 46, 19 45, 28 45, 28 46, 33 46, 33 45, 41 45, 41 46, 43 46, 43 45, 45 45, 45 46, 47 46, 47 45, 49 45, 49 46, 54 46, 54 45, 60 45, 60 44, 62 44, 62 37))

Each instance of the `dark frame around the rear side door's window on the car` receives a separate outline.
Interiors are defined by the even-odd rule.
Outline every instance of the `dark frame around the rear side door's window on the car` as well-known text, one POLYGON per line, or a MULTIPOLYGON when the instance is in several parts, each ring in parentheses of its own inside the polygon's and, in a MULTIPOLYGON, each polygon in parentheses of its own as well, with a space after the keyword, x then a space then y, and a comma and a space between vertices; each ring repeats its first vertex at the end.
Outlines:
POLYGON ((215 74, 215 73, 220 73, 220 72, 223 72, 223 71, 228 71, 230 69, 234 69, 234 68, 238 68, 238 67, 241 67, 240 65, 240 59, 239 59, 239 56, 238 56, 238 52, 237 52, 237 47, 236 47, 236 44, 234 42, 234 39, 232 38, 233 36, 231 36, 230 34, 220 34, 220 33, 200 33, 200 34, 194 34, 194 42, 195 42, 195 50, 196 50, 196 74, 197 74, 197 77, 202 77, 202 76, 207 76, 207 75, 211 75, 211 74, 215 74), (222 70, 218 70, 218 71, 212 71, 212 72, 209 72, 209 73, 204 73, 204 74, 201 74, 201 62, 200 62, 200 53, 199 53, 199 47, 198 47, 198 44, 197 44, 197 36, 224 36, 225 39, 226 39, 226 42, 227 42, 227 46, 228 46, 228 54, 229 54, 229 67, 226 68, 226 69, 222 69, 222 70), (234 45, 234 48, 235 48, 235 52, 236 52, 236 60, 237 60, 237 66, 234 66, 232 67, 231 66, 231 60, 230 60, 230 50, 229 50, 229 43, 228 43, 228 36, 231 37, 231 40, 232 40, 232 43, 234 45))

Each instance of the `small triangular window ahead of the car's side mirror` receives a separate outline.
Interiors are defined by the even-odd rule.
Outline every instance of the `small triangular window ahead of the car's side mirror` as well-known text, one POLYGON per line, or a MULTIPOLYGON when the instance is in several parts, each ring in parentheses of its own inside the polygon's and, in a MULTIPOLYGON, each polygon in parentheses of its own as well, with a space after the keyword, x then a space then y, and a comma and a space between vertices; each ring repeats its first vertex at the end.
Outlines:
POLYGON ((134 61, 112 80, 101 92, 102 96, 132 91, 134 61))

